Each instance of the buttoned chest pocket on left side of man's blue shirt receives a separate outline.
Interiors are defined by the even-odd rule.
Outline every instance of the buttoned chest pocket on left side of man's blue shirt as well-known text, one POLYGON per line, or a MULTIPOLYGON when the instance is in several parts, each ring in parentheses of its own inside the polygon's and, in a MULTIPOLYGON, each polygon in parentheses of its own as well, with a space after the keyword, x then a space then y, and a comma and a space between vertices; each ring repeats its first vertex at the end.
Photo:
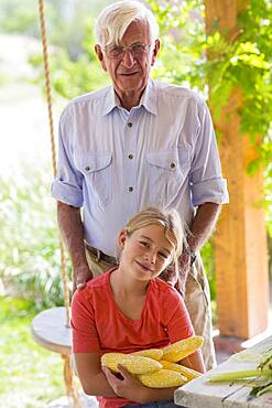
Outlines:
POLYGON ((109 204, 112 197, 112 153, 80 153, 78 163, 91 200, 102 206, 109 204))

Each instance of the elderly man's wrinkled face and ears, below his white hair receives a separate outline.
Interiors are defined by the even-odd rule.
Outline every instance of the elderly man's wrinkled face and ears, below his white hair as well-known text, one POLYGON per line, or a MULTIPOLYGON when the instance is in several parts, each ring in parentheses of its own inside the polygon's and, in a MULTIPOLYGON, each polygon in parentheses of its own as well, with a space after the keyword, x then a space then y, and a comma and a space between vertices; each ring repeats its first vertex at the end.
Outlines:
POLYGON ((96 45, 96 53, 100 60, 101 66, 107 71, 112 79, 117 94, 122 97, 123 94, 134 93, 141 95, 145 88, 150 68, 154 64, 156 54, 160 49, 160 41, 150 45, 150 29, 144 21, 133 21, 127 29, 118 46, 131 46, 133 44, 145 45, 143 53, 134 53, 126 50, 123 55, 113 57, 110 50, 116 44, 101 50, 96 45))

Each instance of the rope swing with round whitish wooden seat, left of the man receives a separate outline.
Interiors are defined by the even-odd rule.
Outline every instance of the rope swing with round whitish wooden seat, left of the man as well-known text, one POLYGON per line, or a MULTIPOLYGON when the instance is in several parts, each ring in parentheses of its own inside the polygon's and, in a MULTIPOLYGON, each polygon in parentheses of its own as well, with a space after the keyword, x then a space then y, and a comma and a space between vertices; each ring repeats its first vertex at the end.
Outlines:
MULTIPOLYGON (((51 150, 52 150, 52 164, 53 175, 56 175, 56 149, 54 139, 54 127, 53 127, 53 115, 52 115, 52 94, 51 94, 51 80, 48 69, 48 52, 47 52, 47 39, 46 39, 46 26, 44 15, 44 0, 39 0, 39 15, 42 35, 43 46, 43 60, 44 60, 44 74, 45 74, 45 87, 46 87, 46 103, 47 114, 50 124, 50 137, 51 137, 51 150)), ((69 289, 68 289, 68 276, 66 268, 66 257, 64 244, 59 239, 61 246, 61 270, 62 270, 62 282, 64 291, 64 307, 51 308, 39 313, 31 323, 31 332, 34 341, 41 346, 59 353, 64 359, 64 382, 66 387, 66 395, 69 401, 69 406, 75 408, 81 408, 78 391, 74 384, 74 375, 70 368, 70 351, 72 351, 72 330, 70 330, 70 309, 69 309, 69 289)))

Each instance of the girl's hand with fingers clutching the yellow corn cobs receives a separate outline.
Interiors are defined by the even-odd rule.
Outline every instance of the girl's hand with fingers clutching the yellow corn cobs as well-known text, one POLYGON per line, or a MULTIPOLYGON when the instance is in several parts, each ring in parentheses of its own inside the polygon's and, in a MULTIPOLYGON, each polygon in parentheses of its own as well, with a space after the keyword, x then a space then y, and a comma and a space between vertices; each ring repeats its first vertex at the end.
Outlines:
POLYGON ((130 374, 122 365, 118 365, 118 369, 123 379, 118 378, 107 367, 102 367, 106 378, 113 389, 113 391, 122 398, 131 399, 132 401, 144 404, 144 394, 146 387, 144 387, 139 379, 130 374))

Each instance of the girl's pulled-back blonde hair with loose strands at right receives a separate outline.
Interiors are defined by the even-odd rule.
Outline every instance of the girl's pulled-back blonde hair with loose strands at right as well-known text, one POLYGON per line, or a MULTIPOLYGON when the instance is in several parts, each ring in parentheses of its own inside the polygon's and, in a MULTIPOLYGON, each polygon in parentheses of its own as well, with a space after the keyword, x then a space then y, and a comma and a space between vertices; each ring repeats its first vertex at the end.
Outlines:
POLYGON ((128 221, 124 230, 127 232, 127 235, 130 236, 137 229, 154 224, 162 225, 164 227, 165 237, 174 248, 172 261, 174 264, 174 270, 177 278, 178 258, 183 253, 183 247, 186 246, 186 238, 182 219, 176 210, 146 207, 128 221))

